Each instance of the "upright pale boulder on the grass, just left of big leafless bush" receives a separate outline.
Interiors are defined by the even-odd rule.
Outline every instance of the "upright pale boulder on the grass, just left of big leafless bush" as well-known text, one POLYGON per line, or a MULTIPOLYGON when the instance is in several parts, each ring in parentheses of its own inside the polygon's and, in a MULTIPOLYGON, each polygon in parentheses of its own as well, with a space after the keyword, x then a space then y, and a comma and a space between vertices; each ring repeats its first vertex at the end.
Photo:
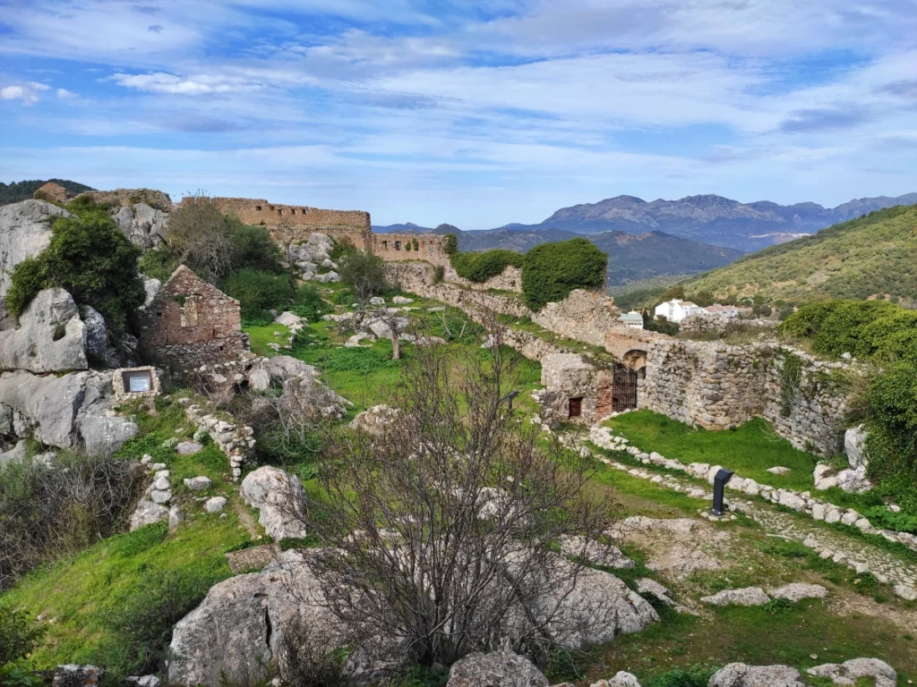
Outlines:
POLYGON ((246 505, 260 510, 258 521, 275 541, 305 537, 305 492, 299 477, 265 465, 242 480, 246 505))

